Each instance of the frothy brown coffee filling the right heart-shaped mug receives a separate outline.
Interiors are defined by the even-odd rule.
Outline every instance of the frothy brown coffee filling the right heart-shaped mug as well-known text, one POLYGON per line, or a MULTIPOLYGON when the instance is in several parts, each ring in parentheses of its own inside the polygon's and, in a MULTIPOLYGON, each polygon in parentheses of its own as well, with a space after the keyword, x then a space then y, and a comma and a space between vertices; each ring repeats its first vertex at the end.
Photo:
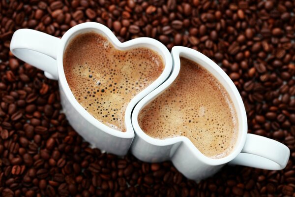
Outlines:
POLYGON ((223 158, 237 138, 237 116, 225 88, 202 66, 180 58, 173 84, 145 106, 138 117, 149 136, 186 136, 207 157, 223 158))

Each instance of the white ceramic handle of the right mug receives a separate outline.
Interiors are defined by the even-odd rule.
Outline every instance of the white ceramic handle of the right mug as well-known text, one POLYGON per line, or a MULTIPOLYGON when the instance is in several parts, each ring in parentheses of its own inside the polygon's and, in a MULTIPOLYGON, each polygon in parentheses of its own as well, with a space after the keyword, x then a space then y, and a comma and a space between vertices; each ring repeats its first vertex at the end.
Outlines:
POLYGON ((281 170, 286 167, 289 157, 290 150, 284 144, 267 137, 248 133, 241 153, 229 164, 281 170))

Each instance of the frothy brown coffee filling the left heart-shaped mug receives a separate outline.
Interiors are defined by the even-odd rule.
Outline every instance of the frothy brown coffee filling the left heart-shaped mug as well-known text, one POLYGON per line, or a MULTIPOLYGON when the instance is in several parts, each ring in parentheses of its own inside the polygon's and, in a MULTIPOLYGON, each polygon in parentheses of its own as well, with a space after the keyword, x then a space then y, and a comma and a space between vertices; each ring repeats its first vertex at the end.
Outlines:
POLYGON ((164 63, 148 48, 120 51, 106 37, 90 32, 70 41, 63 67, 78 102, 103 124, 126 131, 128 103, 160 76, 164 63))

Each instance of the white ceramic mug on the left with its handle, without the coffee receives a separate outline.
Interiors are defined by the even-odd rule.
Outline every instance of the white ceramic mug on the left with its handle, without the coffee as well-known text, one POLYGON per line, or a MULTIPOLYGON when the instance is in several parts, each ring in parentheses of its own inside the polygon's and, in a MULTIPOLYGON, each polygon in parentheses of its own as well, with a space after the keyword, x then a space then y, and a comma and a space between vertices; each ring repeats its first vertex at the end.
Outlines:
MULTIPOLYGON (((61 104, 72 127, 91 145, 109 153, 125 155, 134 137, 131 112, 136 103, 163 83, 172 70, 172 58, 168 49, 159 41, 141 37, 121 43, 110 29, 99 23, 83 23, 68 30, 61 39, 35 30, 17 30, 12 37, 10 50, 19 59, 45 71, 50 79, 59 80, 61 104), (165 68, 162 74, 146 89, 135 96, 125 111, 126 132, 114 130, 89 114, 75 99, 65 78, 63 53, 69 41, 79 33, 97 32, 119 50, 147 47, 162 56, 165 68)), ((77 83, 81 83, 77 81, 77 83)))

